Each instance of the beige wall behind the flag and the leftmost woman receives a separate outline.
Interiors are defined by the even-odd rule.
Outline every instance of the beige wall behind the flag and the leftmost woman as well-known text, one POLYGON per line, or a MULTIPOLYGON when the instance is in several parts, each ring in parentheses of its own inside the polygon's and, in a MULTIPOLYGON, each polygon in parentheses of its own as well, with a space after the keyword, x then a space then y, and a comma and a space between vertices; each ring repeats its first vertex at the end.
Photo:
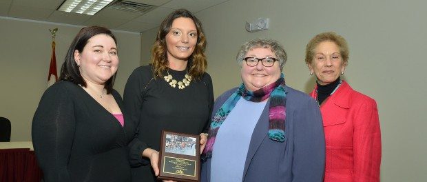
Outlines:
MULTIPOLYGON (((11 141, 30 141, 31 123, 46 89, 52 38, 56 32, 58 74, 72 39, 81 27, 0 17, 0 116, 12 123, 11 141)), ((114 32, 120 65, 114 88, 121 94, 127 77, 140 65, 140 34, 114 32)))

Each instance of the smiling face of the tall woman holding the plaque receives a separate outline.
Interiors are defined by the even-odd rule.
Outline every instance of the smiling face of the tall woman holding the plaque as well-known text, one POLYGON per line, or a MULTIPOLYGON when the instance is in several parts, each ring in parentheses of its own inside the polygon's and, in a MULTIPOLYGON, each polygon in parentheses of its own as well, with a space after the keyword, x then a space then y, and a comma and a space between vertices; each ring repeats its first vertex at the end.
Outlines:
POLYGON ((168 61, 187 61, 197 43, 197 29, 190 18, 180 17, 172 22, 166 35, 168 61))

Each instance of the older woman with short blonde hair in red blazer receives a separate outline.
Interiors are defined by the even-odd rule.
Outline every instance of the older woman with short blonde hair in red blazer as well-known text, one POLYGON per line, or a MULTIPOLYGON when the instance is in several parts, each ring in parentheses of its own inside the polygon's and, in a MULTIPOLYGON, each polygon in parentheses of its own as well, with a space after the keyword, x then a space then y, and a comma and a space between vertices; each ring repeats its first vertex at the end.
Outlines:
POLYGON ((334 32, 317 34, 306 46, 306 64, 317 84, 326 140, 324 181, 379 181, 381 131, 377 103, 340 79, 348 46, 334 32))

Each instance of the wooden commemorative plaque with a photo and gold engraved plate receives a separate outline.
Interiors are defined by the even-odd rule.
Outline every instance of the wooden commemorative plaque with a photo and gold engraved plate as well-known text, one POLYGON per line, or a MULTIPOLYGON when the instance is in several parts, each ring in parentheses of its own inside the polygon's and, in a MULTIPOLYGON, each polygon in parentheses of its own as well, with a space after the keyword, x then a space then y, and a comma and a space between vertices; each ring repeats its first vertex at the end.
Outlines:
POLYGON ((200 136, 162 131, 158 179, 200 181, 200 136))

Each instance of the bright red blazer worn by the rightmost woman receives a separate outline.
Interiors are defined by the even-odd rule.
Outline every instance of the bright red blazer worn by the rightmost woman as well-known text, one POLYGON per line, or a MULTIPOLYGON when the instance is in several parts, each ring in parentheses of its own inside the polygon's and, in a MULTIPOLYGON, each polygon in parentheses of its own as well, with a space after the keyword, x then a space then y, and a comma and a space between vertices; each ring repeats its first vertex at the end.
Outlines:
POLYGON ((326 140, 324 181, 379 181, 381 131, 375 100, 342 81, 320 112, 326 140))

